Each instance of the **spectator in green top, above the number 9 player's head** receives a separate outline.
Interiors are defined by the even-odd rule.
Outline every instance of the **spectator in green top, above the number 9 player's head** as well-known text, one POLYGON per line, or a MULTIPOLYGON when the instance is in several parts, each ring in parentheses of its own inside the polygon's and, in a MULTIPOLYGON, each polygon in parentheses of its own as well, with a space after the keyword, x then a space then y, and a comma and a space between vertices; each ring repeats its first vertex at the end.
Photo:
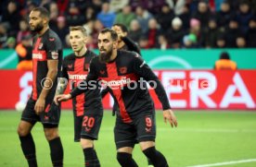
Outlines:
POLYGON ((134 18, 135 18, 135 15, 132 12, 131 6, 127 5, 122 8, 122 12, 117 14, 117 17, 115 18, 115 24, 120 23, 120 24, 123 24, 125 27, 129 28, 131 21, 134 18))

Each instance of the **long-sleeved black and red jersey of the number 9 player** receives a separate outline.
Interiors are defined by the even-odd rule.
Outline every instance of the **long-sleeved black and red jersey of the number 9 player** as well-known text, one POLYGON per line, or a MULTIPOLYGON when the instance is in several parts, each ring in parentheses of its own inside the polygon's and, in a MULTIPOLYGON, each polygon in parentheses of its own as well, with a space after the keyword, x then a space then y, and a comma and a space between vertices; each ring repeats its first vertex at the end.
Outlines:
MULTIPOLYGON (((163 110, 171 108, 159 78, 138 54, 118 51, 116 59, 109 63, 100 63, 98 57, 94 58, 86 82, 96 79, 101 80, 103 87, 107 86, 118 103, 120 111, 117 115, 124 123, 131 123, 135 116, 154 111, 145 80, 150 86, 155 86, 163 110)), ((73 89, 71 96, 81 94, 84 89, 80 88, 73 89)))

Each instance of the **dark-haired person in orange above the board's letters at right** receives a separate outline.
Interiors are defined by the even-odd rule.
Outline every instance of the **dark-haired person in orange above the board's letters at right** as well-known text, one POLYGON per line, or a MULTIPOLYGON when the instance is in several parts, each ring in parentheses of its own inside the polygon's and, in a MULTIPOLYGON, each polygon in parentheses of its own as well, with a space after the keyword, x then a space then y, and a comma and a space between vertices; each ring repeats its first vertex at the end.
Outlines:
POLYGON ((228 53, 223 52, 220 56, 220 60, 215 62, 214 69, 216 69, 216 70, 222 70, 222 69, 236 70, 237 63, 230 60, 230 56, 228 53))

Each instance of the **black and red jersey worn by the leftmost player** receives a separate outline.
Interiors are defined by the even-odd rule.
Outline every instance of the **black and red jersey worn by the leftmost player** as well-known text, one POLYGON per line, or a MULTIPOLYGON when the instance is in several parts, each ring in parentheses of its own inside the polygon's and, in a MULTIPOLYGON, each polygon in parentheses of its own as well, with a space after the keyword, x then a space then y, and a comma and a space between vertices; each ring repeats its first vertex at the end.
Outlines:
MULTIPOLYGON (((58 60, 58 75, 62 65, 62 44, 58 34, 53 30, 46 30, 42 36, 33 37, 32 43, 32 100, 39 97, 46 75, 48 73, 47 60, 58 60)), ((58 79, 55 79, 46 101, 52 101, 55 96, 58 79)))

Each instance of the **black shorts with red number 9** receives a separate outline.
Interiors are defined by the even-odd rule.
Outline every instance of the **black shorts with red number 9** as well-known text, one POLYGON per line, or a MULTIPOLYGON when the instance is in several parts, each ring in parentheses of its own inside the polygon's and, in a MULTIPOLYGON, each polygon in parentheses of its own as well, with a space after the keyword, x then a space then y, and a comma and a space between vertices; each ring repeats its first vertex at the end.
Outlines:
POLYGON ((123 123, 117 117, 114 128, 116 148, 134 148, 134 144, 141 141, 155 141, 156 121, 155 114, 140 115, 130 124, 123 123))

